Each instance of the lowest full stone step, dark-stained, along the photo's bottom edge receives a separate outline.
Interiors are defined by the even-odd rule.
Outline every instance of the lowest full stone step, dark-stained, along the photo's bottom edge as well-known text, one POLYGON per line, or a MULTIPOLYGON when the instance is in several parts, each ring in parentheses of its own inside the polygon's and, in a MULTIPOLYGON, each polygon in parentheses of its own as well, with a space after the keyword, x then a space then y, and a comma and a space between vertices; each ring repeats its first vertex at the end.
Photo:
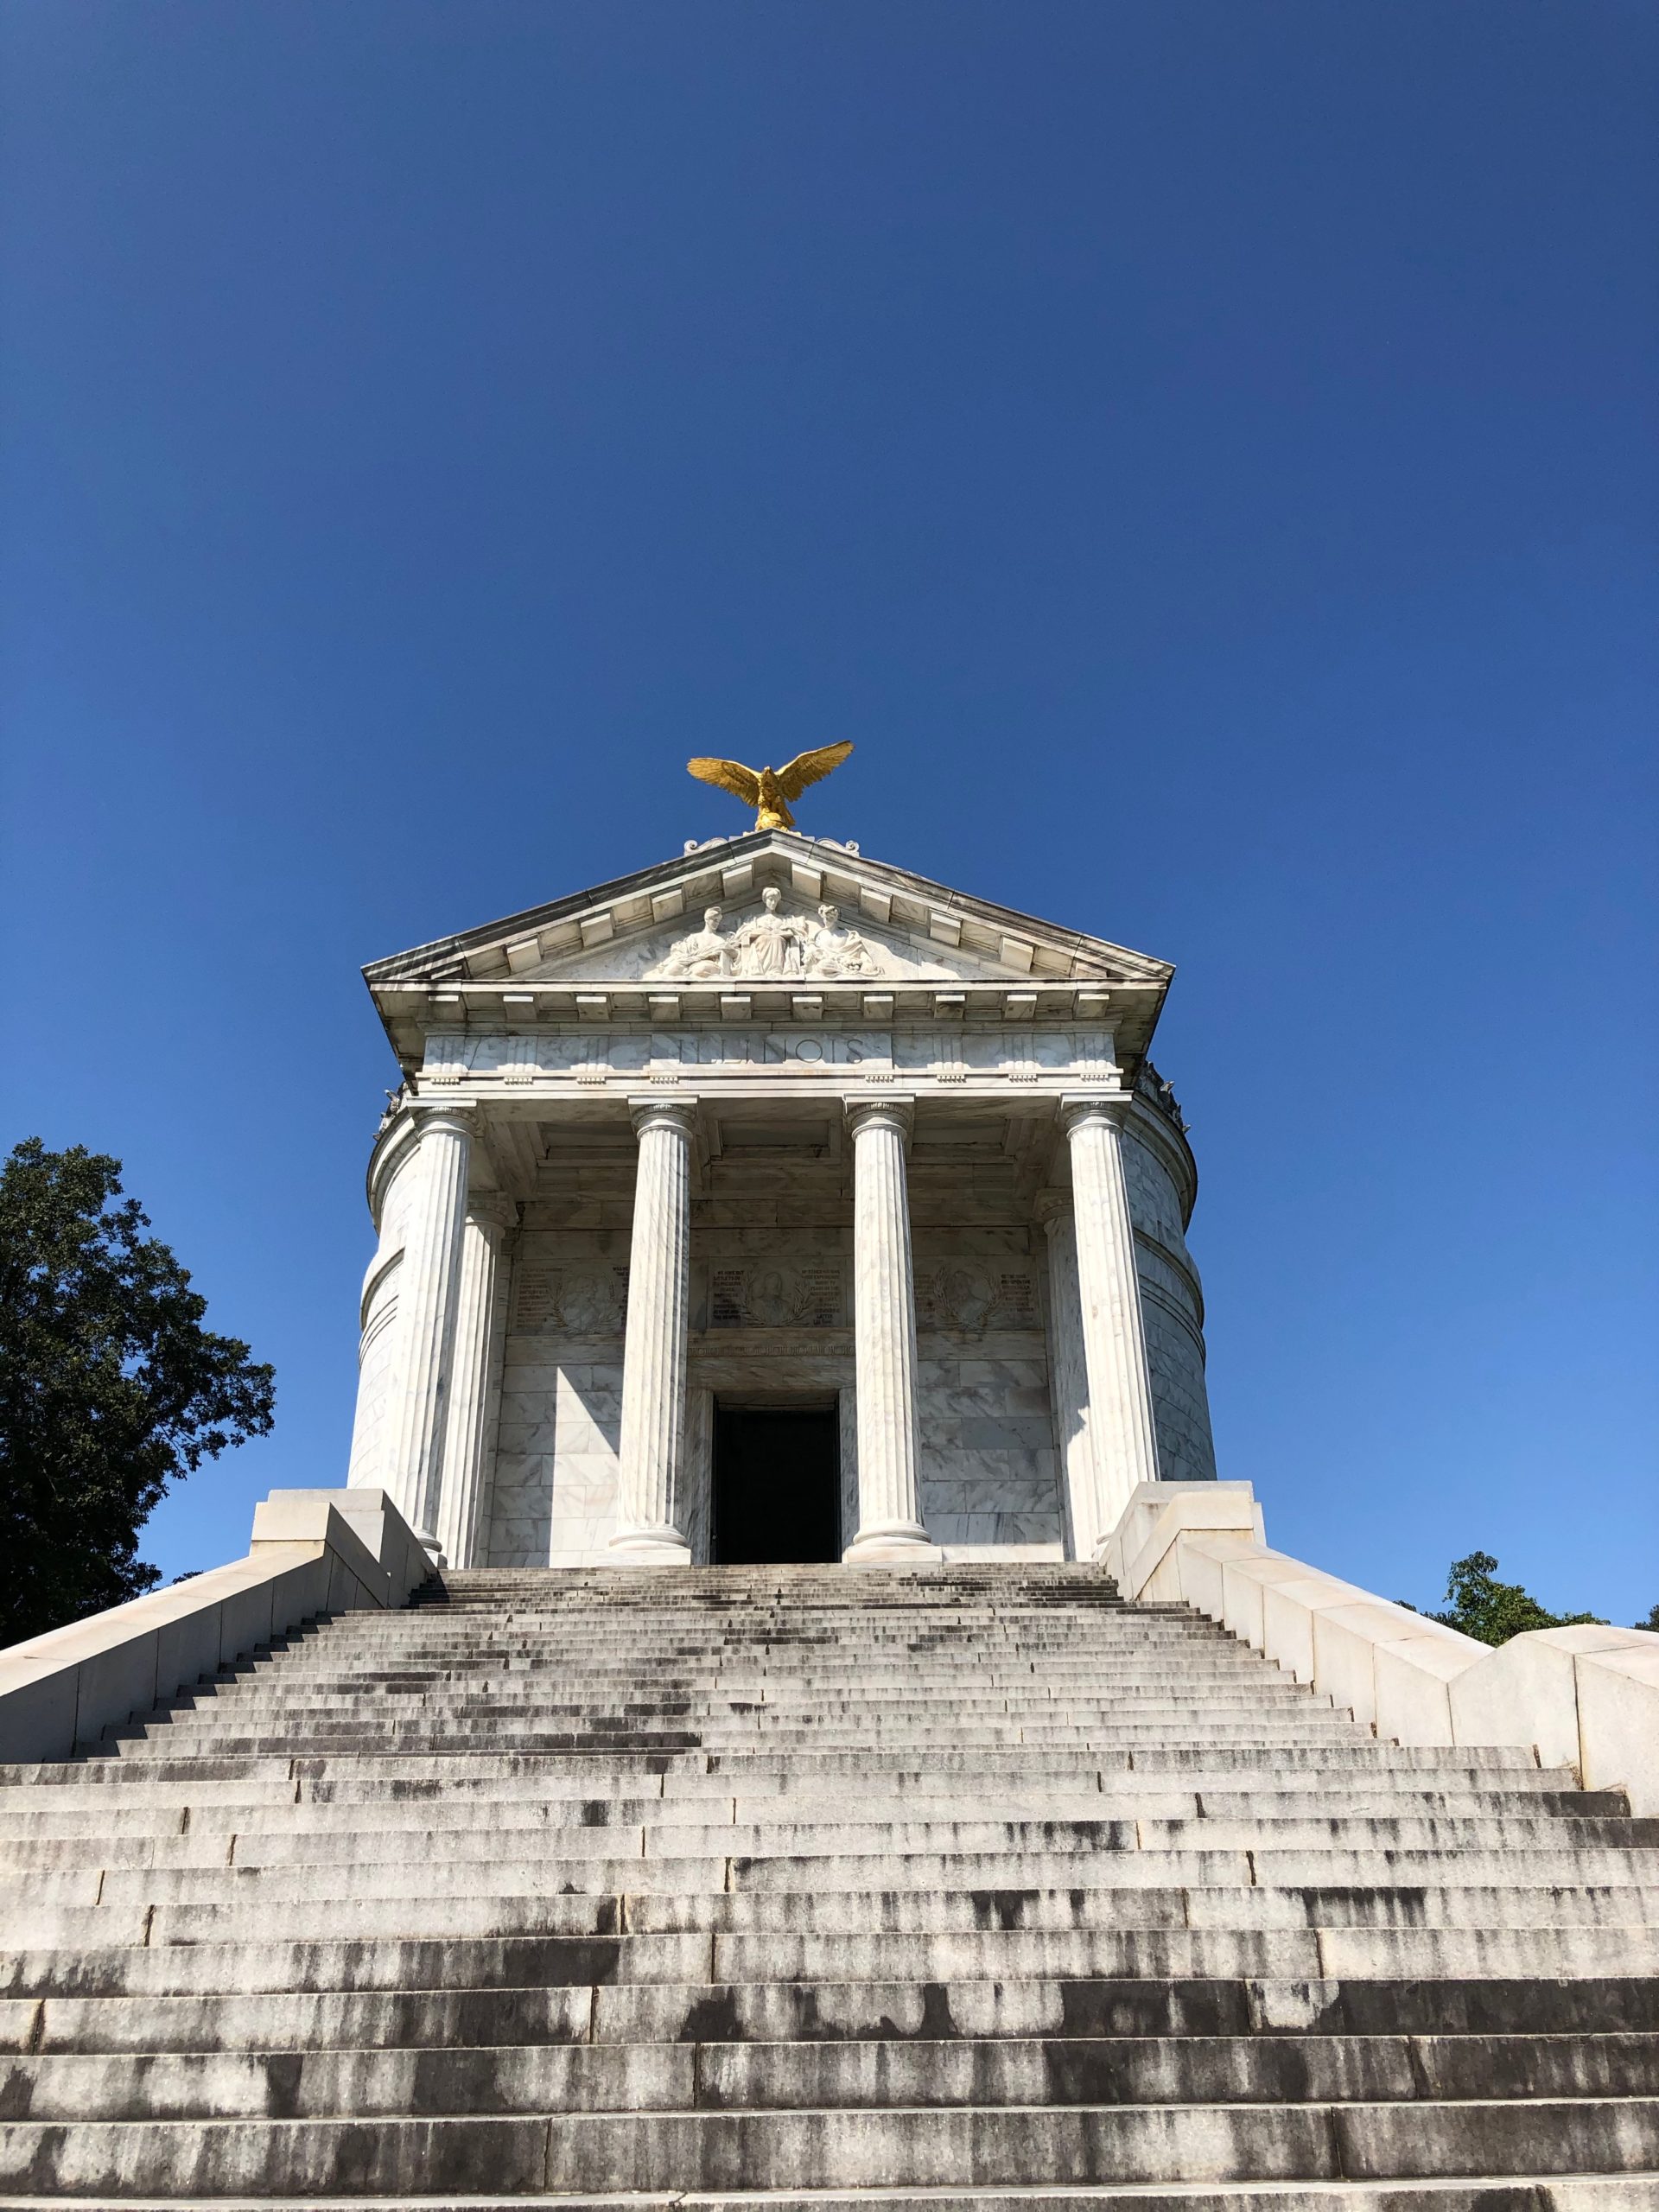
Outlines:
POLYGON ((204 2119, 0 2126, 0 2188, 173 2197, 984 2188, 1440 2174, 1659 2163, 1659 2101, 1006 2106, 573 2112, 555 2119, 204 2119))

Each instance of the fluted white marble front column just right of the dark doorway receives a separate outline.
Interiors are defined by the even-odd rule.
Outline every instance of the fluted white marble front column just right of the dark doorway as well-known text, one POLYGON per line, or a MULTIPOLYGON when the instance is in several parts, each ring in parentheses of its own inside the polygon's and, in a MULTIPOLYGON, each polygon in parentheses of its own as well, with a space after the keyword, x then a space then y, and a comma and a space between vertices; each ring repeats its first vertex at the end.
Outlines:
POLYGON ((858 1389, 858 1535, 849 1566, 927 1553, 916 1442, 916 1276, 905 1144, 911 1102, 849 1099, 854 1144, 854 1380, 858 1389))

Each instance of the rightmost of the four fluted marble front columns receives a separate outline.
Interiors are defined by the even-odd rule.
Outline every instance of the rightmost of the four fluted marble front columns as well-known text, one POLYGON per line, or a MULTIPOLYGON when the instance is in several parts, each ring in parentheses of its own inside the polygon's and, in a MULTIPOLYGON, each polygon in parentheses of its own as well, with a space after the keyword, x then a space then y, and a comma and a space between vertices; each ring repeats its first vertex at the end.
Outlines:
POLYGON ((1060 1102, 1071 1144, 1077 1303, 1088 1374, 1088 1447, 1099 1533, 1108 1535, 1137 1482, 1157 1482, 1152 1385, 1146 1371, 1141 1283, 1124 1181, 1128 1097, 1060 1102))

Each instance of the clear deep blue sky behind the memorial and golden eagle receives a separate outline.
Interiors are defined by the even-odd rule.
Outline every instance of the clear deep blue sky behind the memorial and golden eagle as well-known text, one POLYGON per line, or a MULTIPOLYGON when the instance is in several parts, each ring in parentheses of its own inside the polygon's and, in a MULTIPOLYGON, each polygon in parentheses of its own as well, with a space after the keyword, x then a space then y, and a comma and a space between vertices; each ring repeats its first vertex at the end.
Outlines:
POLYGON ((1225 1475, 1659 1599, 1637 0, 13 0, 7 1139, 338 1482, 380 953, 803 827, 1179 962, 1225 1475))

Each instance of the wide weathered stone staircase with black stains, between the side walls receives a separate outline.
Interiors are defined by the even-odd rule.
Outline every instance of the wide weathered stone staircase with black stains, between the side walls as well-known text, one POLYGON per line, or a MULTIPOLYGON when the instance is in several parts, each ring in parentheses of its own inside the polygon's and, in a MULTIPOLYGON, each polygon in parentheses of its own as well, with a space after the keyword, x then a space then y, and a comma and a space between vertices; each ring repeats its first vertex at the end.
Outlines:
POLYGON ((1659 1820, 1086 1568, 451 1573, 0 1865, 7 2205, 1659 2212, 1659 1820))

